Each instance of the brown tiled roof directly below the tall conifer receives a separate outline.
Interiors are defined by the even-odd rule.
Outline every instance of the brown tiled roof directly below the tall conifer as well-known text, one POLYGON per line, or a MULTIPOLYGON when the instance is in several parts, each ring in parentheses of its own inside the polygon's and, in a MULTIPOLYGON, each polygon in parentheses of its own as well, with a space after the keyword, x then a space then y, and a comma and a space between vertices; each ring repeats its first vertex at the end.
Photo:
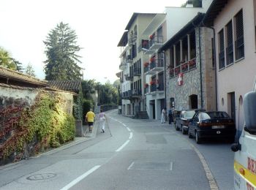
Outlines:
POLYGON ((80 80, 49 80, 51 88, 58 88, 62 91, 78 92, 80 90, 80 80))

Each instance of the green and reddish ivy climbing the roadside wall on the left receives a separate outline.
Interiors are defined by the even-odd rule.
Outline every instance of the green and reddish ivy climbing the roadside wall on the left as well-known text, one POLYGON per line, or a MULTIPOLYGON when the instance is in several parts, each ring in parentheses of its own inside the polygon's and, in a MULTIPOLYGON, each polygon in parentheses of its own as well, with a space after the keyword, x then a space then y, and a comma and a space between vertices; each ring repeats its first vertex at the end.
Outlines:
POLYGON ((58 94, 41 92, 31 107, 23 104, 2 109, 0 115, 15 110, 18 116, 7 120, 8 126, 1 129, 0 159, 27 151, 28 144, 33 146, 33 153, 38 153, 73 140, 75 119, 64 112, 63 102, 58 94))

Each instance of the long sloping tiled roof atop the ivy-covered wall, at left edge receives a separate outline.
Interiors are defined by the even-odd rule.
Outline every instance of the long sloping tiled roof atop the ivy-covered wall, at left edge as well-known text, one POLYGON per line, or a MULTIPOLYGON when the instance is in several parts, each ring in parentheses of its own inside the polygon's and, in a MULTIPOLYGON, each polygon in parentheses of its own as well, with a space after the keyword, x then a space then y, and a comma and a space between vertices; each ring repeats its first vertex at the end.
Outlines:
MULTIPOLYGON (((30 75, 26 75, 22 72, 17 72, 12 69, 7 69, 3 66, 0 66, 0 80, 4 81, 7 84, 27 84, 32 86, 48 86, 47 81, 39 80, 36 77, 32 77, 30 75)), ((23 86, 20 85, 20 86, 23 86)))

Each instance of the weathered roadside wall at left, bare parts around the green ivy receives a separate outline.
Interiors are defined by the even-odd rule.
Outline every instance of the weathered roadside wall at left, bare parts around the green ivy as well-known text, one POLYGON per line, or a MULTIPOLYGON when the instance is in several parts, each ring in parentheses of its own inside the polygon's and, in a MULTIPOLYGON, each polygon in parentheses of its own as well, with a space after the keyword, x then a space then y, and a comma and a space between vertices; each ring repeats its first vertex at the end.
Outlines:
MULTIPOLYGON (((37 95, 39 93, 45 94, 58 94, 61 96, 62 110, 72 115, 72 99, 73 95, 63 91, 45 91, 39 88, 24 88, 19 86, 10 86, 0 84, 0 165, 7 164, 12 161, 20 159, 27 159, 32 156, 36 151, 37 137, 31 142, 26 142, 23 145, 23 151, 12 151, 10 156, 2 157, 4 145, 12 144, 12 138, 17 140, 23 137, 22 133, 19 136, 16 134, 20 130, 19 121, 20 115, 24 110, 29 110, 34 105, 37 95)), ((11 145, 12 146, 12 145, 11 145)))

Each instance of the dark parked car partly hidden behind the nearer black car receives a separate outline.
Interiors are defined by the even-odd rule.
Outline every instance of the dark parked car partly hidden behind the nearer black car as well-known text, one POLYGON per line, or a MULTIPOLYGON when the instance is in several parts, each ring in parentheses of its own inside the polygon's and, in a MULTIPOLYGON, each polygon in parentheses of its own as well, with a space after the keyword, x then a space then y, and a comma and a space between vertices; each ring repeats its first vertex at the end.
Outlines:
POLYGON ((181 130, 182 134, 187 134, 189 129, 189 121, 195 115, 196 110, 182 110, 179 117, 176 118, 175 129, 181 130))

